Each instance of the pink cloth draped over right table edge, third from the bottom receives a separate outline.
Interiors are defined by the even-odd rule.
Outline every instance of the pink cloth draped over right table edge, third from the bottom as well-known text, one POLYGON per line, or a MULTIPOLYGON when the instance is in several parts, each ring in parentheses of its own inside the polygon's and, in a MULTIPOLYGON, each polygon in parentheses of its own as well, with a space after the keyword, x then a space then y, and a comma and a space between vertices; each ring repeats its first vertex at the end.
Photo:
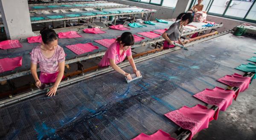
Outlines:
POLYGON ((227 107, 232 104, 233 98, 236 97, 234 90, 224 90, 221 87, 215 87, 212 90, 205 89, 204 91, 199 92, 193 96, 207 104, 218 106, 218 110, 214 115, 215 120, 218 118, 219 110, 225 111, 227 107))

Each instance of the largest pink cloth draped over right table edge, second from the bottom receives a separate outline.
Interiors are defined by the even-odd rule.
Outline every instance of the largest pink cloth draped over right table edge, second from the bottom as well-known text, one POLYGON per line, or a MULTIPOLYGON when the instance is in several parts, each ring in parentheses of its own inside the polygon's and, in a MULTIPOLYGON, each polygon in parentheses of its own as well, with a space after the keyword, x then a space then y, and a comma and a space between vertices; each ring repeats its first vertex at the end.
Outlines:
POLYGON ((192 108, 183 106, 178 110, 166 113, 165 116, 181 128, 190 130, 191 134, 187 140, 191 140, 196 133, 208 128, 214 113, 213 109, 207 109, 206 106, 198 104, 192 108))

